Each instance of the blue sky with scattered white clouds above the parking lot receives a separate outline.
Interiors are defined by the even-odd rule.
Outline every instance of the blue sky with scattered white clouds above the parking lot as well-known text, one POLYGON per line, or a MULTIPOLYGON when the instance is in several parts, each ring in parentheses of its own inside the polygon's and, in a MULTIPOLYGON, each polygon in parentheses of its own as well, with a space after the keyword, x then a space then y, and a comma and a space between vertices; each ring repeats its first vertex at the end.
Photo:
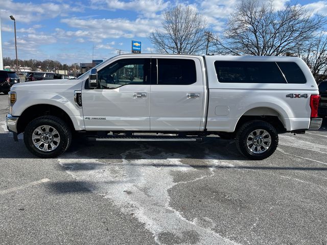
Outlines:
MULTIPOLYGON (((261 0, 265 1, 265 0, 261 0)), ((213 32, 223 30, 240 0, 0 0, 3 56, 15 57, 13 21, 16 18, 19 59, 52 59, 73 64, 107 59, 131 52, 131 41, 142 42, 142 53, 155 53, 148 37, 160 28, 162 13, 178 4, 191 5, 207 19, 213 32), (94 49, 92 48, 94 46, 94 49)), ((278 9, 287 0, 274 0, 278 9)), ((327 15, 326 1, 297 4, 327 15)))

